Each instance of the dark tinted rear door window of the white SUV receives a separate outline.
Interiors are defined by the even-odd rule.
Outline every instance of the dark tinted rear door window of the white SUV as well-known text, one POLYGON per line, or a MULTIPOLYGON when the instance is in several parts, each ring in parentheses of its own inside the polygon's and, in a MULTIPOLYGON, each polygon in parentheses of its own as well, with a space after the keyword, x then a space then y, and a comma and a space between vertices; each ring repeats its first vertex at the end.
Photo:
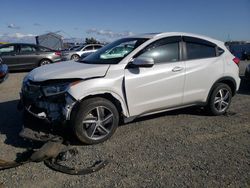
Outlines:
POLYGON ((202 59, 216 57, 216 46, 202 39, 184 37, 187 59, 202 59))

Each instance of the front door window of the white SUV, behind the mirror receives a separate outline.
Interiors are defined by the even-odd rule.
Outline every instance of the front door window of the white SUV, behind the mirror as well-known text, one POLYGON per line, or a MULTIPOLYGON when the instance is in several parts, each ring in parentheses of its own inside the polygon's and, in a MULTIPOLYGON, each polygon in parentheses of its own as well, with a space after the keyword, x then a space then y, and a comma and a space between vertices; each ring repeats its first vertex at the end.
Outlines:
POLYGON ((139 56, 153 58, 158 64, 179 61, 179 41, 180 37, 160 39, 146 47, 139 56))

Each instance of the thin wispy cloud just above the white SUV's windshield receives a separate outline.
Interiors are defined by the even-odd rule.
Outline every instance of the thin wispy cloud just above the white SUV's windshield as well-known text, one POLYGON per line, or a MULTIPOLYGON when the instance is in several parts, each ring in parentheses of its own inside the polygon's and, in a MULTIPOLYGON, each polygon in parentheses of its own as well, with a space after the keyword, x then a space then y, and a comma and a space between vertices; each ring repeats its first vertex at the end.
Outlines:
POLYGON ((134 35, 134 33, 131 31, 113 32, 111 30, 102 30, 102 29, 98 30, 95 28, 88 29, 86 32, 88 34, 96 34, 96 35, 106 36, 109 38, 127 37, 127 36, 134 35))

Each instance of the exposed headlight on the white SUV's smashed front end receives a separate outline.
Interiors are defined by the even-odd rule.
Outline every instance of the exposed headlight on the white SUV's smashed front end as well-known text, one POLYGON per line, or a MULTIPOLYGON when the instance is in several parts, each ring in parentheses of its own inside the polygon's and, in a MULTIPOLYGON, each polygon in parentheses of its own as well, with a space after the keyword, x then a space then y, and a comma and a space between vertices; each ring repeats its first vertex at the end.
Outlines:
POLYGON ((65 93, 69 89, 70 83, 63 83, 58 85, 43 86, 43 93, 45 96, 58 95, 65 93))

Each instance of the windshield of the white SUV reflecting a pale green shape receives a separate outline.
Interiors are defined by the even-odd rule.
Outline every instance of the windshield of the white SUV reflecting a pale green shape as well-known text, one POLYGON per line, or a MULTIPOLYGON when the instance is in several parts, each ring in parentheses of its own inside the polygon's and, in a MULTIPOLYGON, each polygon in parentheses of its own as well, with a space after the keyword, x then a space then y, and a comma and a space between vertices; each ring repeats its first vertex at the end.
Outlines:
POLYGON ((117 64, 147 40, 145 38, 119 39, 104 46, 97 52, 80 59, 80 62, 88 64, 117 64))

